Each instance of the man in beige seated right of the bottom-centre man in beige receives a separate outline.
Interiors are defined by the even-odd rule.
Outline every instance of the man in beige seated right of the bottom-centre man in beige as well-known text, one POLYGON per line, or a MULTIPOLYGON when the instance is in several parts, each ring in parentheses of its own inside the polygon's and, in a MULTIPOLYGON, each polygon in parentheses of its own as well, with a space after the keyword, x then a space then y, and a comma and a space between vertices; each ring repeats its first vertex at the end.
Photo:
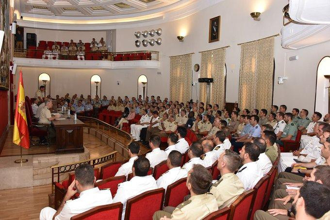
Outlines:
POLYGON ((229 207, 245 191, 242 181, 234 173, 240 163, 238 154, 228 149, 218 158, 217 169, 221 178, 212 185, 210 193, 214 195, 219 209, 229 207))

